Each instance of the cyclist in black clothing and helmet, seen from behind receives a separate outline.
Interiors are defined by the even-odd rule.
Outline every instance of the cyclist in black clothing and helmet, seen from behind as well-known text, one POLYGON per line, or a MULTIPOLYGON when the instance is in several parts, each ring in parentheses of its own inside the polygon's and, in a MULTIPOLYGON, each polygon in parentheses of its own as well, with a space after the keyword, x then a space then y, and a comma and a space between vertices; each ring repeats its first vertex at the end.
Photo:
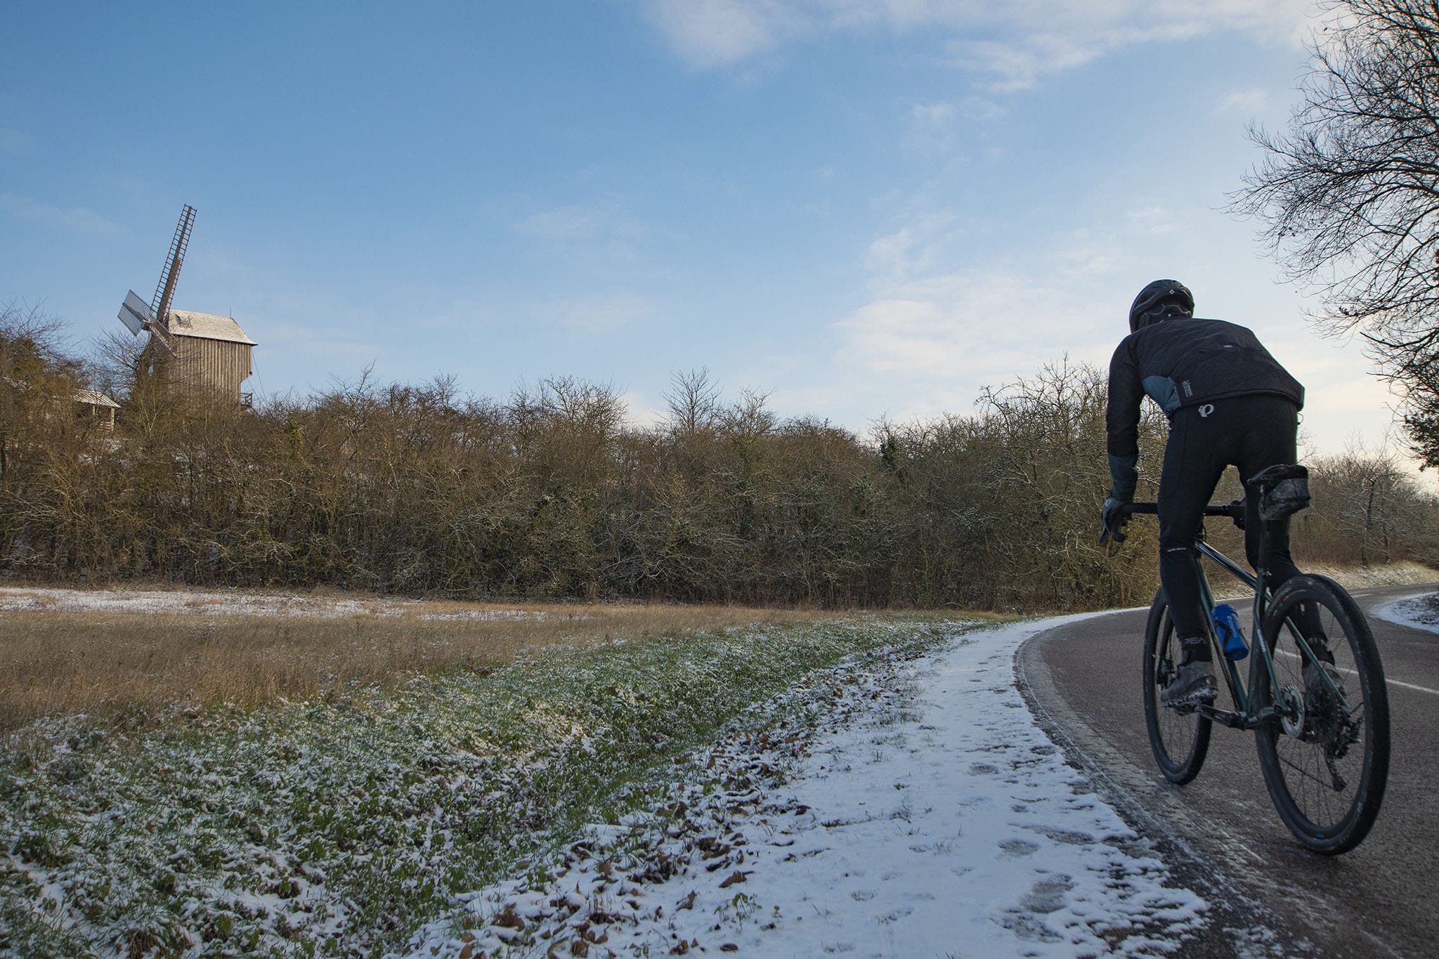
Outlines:
MULTIPOLYGON (((1124 539, 1128 512, 1122 506, 1132 502, 1138 480, 1145 394, 1170 421, 1158 493, 1160 582, 1181 650, 1179 674, 1160 699, 1170 706, 1213 702, 1217 687, 1194 538, 1226 466, 1238 466, 1240 480, 1248 482, 1268 466, 1294 463, 1304 387, 1245 326, 1196 319, 1194 296, 1179 280, 1154 280, 1140 290, 1130 306, 1130 335, 1109 362, 1105 420, 1114 485, 1102 519, 1117 541, 1124 539)), ((1245 506, 1245 552, 1258 566, 1261 520, 1253 500, 1248 497, 1245 506)), ((1299 572, 1289 556, 1288 519, 1272 526, 1268 565, 1275 589, 1299 572)), ((1304 631, 1317 640, 1315 654, 1327 659, 1318 630, 1304 631)))

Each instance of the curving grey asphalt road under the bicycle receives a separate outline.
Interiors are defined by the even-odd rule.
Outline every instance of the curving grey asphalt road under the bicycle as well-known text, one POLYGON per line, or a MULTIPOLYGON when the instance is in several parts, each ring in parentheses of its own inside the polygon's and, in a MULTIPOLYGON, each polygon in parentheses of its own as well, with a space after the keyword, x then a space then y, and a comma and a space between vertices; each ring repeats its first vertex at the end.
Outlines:
MULTIPOLYGON (((1354 595, 1367 611, 1435 588, 1354 595)), ((1199 778, 1174 786, 1160 775, 1140 700, 1144 618, 1042 633, 1016 673, 1071 761, 1215 903, 1217 929, 1187 955, 1439 956, 1439 635, 1370 617, 1389 679, 1389 789, 1368 838, 1324 857, 1279 821, 1252 733, 1216 723, 1199 778)))

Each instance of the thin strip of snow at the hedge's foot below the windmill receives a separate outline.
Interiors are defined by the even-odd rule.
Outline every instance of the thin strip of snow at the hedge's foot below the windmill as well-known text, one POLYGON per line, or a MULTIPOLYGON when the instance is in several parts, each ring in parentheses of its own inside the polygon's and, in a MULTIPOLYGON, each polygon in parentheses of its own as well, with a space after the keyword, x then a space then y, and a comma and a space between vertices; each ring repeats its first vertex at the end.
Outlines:
MULTIPOLYGON (((184 612, 209 615, 302 615, 340 620, 399 617, 423 608, 419 600, 342 600, 298 592, 0 588, 0 612, 184 612)), ((543 620, 528 610, 462 610, 417 614, 423 620, 543 620)))

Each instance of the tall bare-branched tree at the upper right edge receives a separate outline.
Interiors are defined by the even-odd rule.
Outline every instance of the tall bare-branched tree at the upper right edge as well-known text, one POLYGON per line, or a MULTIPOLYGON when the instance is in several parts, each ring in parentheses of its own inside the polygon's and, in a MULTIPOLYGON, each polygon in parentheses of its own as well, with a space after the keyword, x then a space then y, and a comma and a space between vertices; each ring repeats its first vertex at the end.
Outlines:
POLYGON ((1368 341, 1407 394, 1413 449, 1439 466, 1439 4, 1331 0, 1289 128, 1250 129, 1265 160, 1230 208, 1258 217, 1317 318, 1368 341))

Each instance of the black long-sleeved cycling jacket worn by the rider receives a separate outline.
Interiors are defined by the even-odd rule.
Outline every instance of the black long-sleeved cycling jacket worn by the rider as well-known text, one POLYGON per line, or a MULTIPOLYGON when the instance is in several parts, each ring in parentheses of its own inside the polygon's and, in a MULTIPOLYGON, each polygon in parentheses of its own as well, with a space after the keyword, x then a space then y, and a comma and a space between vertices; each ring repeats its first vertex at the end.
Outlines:
POLYGON ((1134 496, 1140 401, 1150 395, 1164 414, 1226 397, 1276 394, 1304 405, 1304 387, 1245 326, 1222 319, 1170 316, 1120 342, 1109 361, 1108 428, 1112 496, 1134 496))

